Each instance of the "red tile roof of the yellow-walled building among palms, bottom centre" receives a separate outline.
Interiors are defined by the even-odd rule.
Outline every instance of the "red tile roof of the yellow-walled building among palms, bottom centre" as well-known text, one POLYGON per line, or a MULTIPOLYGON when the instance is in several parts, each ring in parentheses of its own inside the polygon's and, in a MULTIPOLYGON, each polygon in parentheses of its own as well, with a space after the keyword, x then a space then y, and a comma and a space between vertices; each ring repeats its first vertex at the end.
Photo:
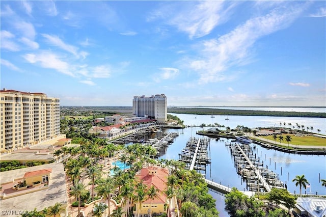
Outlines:
POLYGON ((164 192, 167 187, 168 176, 169 170, 161 167, 143 168, 138 174, 136 174, 136 177, 143 180, 144 184, 147 185, 147 189, 149 189, 152 185, 158 189, 156 198, 153 200, 148 199, 143 203, 166 203, 167 196, 164 192), (156 173, 149 174, 149 171, 155 171, 156 173))

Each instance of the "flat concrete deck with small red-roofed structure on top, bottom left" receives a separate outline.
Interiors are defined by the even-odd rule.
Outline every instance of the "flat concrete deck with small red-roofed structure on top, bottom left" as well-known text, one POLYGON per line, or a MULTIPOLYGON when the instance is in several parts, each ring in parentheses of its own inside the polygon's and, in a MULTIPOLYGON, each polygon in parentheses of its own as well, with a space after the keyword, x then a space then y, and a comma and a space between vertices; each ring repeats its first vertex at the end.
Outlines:
POLYGON ((67 216, 67 193, 63 164, 46 164, 1 172, 1 216, 22 215, 26 211, 61 203, 67 216))

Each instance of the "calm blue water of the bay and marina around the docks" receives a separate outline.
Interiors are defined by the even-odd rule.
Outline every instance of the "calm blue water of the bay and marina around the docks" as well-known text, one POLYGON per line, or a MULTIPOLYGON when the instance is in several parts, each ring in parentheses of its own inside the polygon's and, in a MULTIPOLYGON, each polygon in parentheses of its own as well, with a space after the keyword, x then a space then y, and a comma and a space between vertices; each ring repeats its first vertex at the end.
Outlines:
MULTIPOLYGON (((313 131, 317 132, 317 129, 321 130, 321 133, 325 134, 325 118, 290 118, 290 117, 252 117, 252 116, 228 116, 229 120, 225 120, 226 116, 210 116, 204 115, 185 115, 185 114, 173 114, 178 116, 184 121, 185 125, 199 126, 202 123, 213 124, 219 123, 221 125, 229 126, 231 129, 237 125, 248 126, 251 128, 259 126, 279 126, 280 122, 291 123, 292 126, 296 126, 295 123, 304 126, 313 126, 313 131), (196 117, 196 118, 195 118, 196 117)), ((207 127, 206 127, 207 128, 207 127)), ((178 159, 178 153, 184 148, 186 142, 190 137, 204 137, 196 134, 197 130, 201 130, 200 127, 189 127, 185 129, 168 129, 166 131, 177 131, 179 137, 177 137, 174 143, 166 150, 161 158, 166 159, 178 159)), ((207 167, 206 178, 224 184, 230 187, 237 187, 240 191, 243 188, 246 190, 246 183, 242 183, 241 178, 236 173, 232 157, 228 148, 225 146, 226 142, 230 142, 227 139, 221 138, 220 140, 210 139, 210 154, 211 165, 207 167)), ((325 187, 319 183, 320 179, 326 178, 326 156, 312 156, 312 155, 295 155, 282 153, 275 150, 268 150, 257 146, 254 150, 263 161, 264 167, 268 166, 268 169, 273 170, 279 174, 280 180, 287 183, 288 190, 291 193, 298 193, 299 189, 295 186, 292 179, 296 175, 305 175, 307 180, 311 183, 311 194, 326 195, 325 187), (282 174, 281 174, 282 172, 282 174)), ((310 194, 310 189, 307 188, 307 194, 310 194)), ((305 190, 303 190, 305 193, 305 190)), ((224 197, 215 193, 210 193, 216 199, 216 208, 220 211, 220 216, 229 216, 225 211, 224 197)))

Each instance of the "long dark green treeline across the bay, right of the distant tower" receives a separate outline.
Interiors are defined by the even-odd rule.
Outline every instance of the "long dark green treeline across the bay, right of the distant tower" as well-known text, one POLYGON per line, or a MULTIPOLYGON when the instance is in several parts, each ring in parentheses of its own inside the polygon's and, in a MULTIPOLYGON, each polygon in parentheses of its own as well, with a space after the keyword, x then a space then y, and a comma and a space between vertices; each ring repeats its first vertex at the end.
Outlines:
POLYGON ((240 115, 240 116, 326 118, 326 113, 315 113, 315 112, 230 110, 230 109, 200 108, 200 107, 193 107, 193 108, 192 107, 168 107, 168 113, 193 114, 193 115, 240 115))

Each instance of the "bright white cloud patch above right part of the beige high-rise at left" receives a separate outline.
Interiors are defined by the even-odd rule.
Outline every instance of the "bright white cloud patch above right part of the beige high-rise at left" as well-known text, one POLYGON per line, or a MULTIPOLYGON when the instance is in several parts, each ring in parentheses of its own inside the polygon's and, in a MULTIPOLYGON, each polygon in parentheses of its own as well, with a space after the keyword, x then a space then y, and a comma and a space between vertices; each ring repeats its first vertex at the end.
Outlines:
POLYGON ((67 62, 60 60, 55 53, 48 51, 42 51, 37 54, 28 53, 23 56, 23 58, 29 63, 39 64, 43 68, 55 69, 63 74, 74 77, 72 73, 72 68, 67 62))

